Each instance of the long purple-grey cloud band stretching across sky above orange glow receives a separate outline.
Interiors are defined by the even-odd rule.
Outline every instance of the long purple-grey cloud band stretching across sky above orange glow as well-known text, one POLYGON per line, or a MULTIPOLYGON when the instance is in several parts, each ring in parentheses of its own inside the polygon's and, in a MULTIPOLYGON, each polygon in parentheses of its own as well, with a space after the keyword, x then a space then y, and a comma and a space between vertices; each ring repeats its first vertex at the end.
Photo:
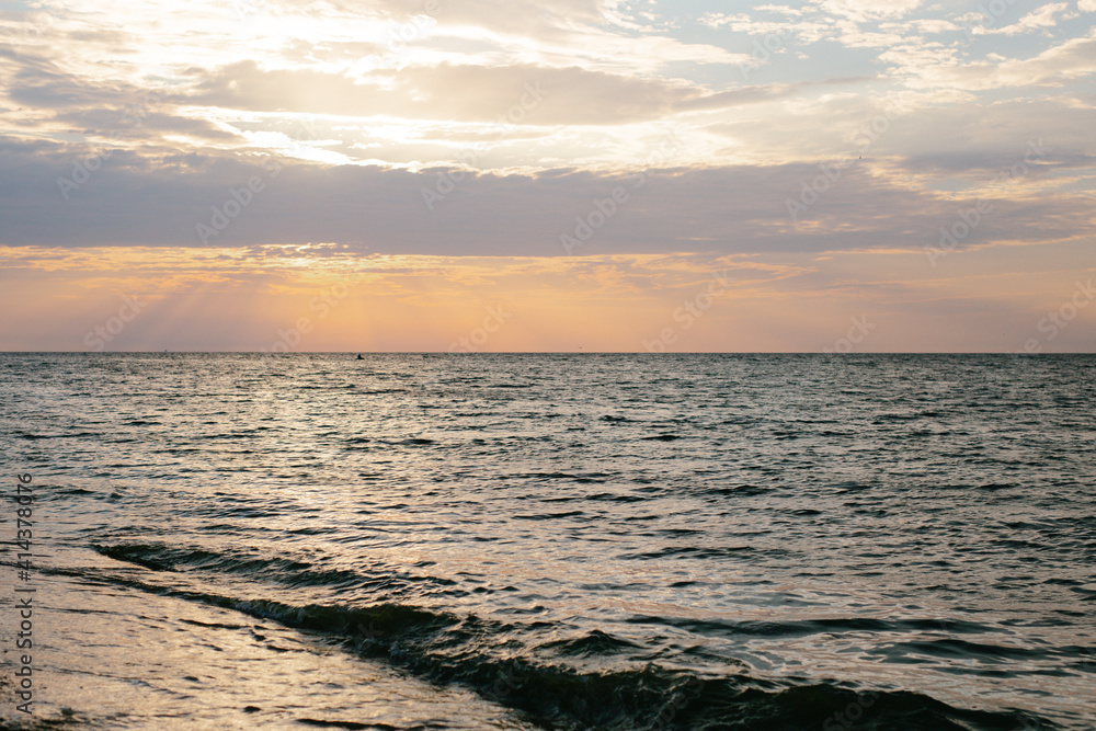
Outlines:
MULTIPOLYGON (((345 243, 362 252, 562 255, 561 235, 584 233, 576 254, 712 251, 821 252, 921 249, 973 201, 943 201, 856 165, 800 216, 799 197, 815 165, 677 169, 636 175, 556 170, 539 175, 465 172, 427 210, 446 169, 412 173, 376 167, 282 161, 275 168, 228 155, 137 155, 118 150, 64 199, 58 178, 73 178, 77 149, 11 139, 0 144, 0 243, 9 245, 202 245, 196 225, 216 228, 235 210, 232 191, 262 190, 235 210, 210 245, 345 243), (275 174, 276 172, 276 174, 275 174), (641 183, 641 184, 640 184, 641 183), (603 225, 597 201, 627 193, 603 225)), ((239 198, 238 198, 239 199, 239 198)), ((993 213, 961 247, 996 240, 1053 240, 1093 231, 1091 206, 1069 196, 994 201, 993 213)))

